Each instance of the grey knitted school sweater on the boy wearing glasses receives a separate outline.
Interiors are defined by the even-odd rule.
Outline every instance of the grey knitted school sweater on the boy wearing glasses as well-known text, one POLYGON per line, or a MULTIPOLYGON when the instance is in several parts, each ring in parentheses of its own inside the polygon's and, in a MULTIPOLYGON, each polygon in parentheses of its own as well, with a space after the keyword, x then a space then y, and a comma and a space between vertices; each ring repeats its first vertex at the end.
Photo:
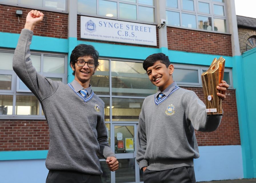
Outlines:
MULTIPOLYGON (((50 132, 46 168, 102 173, 97 153, 115 156, 107 141, 104 102, 93 92, 84 100, 62 82, 36 72, 29 46, 33 31, 23 29, 13 57, 13 70, 40 101, 50 132)), ((54 61, 54 60, 53 60, 54 61)))

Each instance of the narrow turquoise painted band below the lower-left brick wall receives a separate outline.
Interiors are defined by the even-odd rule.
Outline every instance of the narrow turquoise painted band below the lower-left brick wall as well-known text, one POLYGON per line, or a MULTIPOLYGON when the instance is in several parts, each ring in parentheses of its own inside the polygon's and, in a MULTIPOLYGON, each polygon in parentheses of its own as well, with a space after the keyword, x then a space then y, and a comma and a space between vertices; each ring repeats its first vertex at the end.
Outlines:
POLYGON ((0 151, 0 160, 33 160, 45 159, 48 150, 35 151, 0 151))

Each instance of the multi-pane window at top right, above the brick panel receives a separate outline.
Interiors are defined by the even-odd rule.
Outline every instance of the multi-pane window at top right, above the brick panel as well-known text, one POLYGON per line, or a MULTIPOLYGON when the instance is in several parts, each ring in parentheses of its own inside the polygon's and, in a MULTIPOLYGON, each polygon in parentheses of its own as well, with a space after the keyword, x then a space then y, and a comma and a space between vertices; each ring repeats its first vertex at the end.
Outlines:
POLYGON ((167 25, 227 33, 222 0, 166 0, 167 25))

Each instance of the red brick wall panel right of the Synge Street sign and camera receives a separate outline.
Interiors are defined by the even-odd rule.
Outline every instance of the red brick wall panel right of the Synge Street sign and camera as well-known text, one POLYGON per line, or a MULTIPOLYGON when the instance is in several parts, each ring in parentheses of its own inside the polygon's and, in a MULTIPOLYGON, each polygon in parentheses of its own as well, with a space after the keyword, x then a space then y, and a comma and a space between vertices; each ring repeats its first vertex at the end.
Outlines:
POLYGON ((168 49, 232 56, 231 35, 167 27, 168 49))

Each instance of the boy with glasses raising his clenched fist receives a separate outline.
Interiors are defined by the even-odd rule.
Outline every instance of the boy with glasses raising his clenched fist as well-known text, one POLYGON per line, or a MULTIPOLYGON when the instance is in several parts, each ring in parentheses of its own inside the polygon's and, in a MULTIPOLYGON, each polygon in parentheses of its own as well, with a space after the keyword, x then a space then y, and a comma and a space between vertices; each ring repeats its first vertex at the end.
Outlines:
POLYGON ((33 29, 43 16, 37 10, 28 13, 15 49, 13 70, 40 101, 49 125, 46 182, 101 182, 97 154, 106 159, 111 171, 118 169, 118 161, 107 141, 104 102, 89 84, 99 65, 99 53, 91 45, 76 46, 70 56, 75 79, 67 85, 43 77, 29 58, 33 29))

